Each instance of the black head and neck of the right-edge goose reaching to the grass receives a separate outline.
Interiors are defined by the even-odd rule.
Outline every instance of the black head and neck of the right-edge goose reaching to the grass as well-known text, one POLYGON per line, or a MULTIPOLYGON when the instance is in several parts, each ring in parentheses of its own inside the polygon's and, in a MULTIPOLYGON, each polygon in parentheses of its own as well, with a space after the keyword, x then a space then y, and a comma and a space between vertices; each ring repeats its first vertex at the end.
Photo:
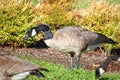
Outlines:
POLYGON ((107 67, 108 67, 108 65, 111 61, 114 60, 114 61, 120 62, 120 49, 119 50, 118 49, 113 49, 111 51, 111 53, 112 52, 114 52, 114 55, 110 55, 109 57, 107 57, 105 62, 95 70, 95 77, 96 78, 99 78, 103 73, 106 72, 106 69, 107 69, 107 67))

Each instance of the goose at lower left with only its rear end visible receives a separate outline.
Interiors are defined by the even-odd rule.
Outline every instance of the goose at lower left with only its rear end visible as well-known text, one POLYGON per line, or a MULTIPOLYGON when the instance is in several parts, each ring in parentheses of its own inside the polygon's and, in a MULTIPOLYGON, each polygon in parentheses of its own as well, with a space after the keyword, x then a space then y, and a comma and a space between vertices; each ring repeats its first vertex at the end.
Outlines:
POLYGON ((0 56, 0 80, 22 80, 28 75, 44 77, 39 71, 48 71, 37 65, 13 56, 0 56))

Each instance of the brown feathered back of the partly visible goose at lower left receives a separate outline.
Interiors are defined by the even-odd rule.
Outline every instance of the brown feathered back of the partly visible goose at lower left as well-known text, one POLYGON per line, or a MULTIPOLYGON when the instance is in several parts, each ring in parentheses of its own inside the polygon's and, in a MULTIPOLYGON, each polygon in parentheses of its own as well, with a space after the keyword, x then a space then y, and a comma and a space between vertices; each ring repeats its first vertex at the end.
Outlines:
POLYGON ((0 79, 12 80, 14 75, 40 69, 36 64, 13 56, 0 56, 0 79))

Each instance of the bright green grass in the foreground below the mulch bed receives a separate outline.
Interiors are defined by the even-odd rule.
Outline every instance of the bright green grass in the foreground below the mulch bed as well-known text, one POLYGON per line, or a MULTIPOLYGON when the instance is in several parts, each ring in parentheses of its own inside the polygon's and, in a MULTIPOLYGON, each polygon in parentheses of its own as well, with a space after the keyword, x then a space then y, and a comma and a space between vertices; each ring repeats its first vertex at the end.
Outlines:
MULTIPOLYGON (((19 57, 49 70, 49 72, 43 71, 45 78, 29 76, 25 80, 95 80, 94 71, 84 70, 82 68, 70 70, 69 68, 64 68, 62 65, 56 65, 50 61, 38 60, 28 56, 19 57)), ((120 80, 120 74, 105 74, 99 80, 120 80)))

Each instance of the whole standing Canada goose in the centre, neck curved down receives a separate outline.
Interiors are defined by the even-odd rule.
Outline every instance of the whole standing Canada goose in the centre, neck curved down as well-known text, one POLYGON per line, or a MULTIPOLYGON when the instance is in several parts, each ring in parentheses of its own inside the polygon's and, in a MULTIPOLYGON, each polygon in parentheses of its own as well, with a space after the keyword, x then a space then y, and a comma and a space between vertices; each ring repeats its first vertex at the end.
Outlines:
POLYGON ((77 26, 66 26, 59 29, 53 36, 50 28, 44 24, 40 24, 34 28, 29 28, 23 40, 35 36, 40 31, 44 32, 44 42, 49 47, 71 54, 70 68, 73 68, 73 58, 75 53, 77 55, 76 66, 79 68, 80 55, 83 51, 95 49, 102 43, 116 43, 102 34, 91 32, 77 26))

